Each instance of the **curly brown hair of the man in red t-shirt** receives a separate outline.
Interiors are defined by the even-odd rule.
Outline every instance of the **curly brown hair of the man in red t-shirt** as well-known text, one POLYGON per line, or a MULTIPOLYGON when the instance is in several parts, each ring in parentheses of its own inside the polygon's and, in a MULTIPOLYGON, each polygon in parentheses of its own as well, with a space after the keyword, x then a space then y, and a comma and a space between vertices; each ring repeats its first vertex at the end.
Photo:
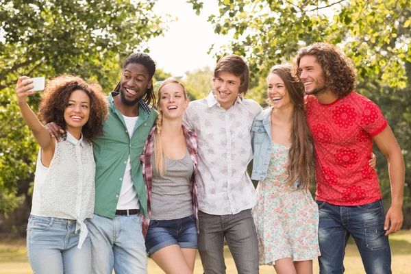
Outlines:
POLYGON ((345 97, 356 89, 356 69, 350 58, 335 45, 317 42, 303 47, 292 62, 292 75, 300 77, 299 64, 307 55, 316 57, 325 74, 325 86, 338 98, 345 97))

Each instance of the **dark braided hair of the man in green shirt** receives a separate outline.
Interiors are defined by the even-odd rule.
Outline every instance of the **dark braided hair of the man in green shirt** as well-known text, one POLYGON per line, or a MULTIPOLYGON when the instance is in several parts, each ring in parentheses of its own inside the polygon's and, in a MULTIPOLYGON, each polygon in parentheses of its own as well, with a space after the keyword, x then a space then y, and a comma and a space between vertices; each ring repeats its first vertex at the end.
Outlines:
MULTIPOLYGON (((153 59, 151 59, 151 57, 147 53, 137 52, 137 53, 130 54, 124 60, 123 69, 125 69, 125 67, 128 64, 140 64, 144 66, 149 72, 150 79, 152 79, 155 74, 155 62, 153 61, 153 59)), ((116 88, 114 88, 114 92, 120 92, 120 86, 121 85, 119 82, 116 88)), ((155 105, 155 93, 154 93, 153 85, 147 88, 145 95, 142 97, 142 101, 145 101, 147 105, 150 105, 150 103, 153 103, 153 105, 155 105)))

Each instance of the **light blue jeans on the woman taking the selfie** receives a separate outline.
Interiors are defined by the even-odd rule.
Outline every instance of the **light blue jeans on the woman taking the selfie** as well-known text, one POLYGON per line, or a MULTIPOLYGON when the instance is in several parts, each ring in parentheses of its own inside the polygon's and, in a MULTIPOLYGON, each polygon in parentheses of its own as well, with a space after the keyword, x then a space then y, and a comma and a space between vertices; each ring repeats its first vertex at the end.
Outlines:
POLYGON ((75 224, 75 220, 30 216, 27 256, 33 273, 91 273, 90 236, 78 249, 79 232, 75 234, 75 224))

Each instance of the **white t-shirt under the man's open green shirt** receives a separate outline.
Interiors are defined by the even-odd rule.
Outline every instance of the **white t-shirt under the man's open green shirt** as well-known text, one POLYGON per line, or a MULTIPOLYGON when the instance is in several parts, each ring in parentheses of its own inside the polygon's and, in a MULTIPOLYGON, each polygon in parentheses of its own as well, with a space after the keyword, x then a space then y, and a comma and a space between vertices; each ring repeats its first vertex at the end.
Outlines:
MULTIPOLYGON (((138 120, 136 117, 124 116, 125 125, 127 125, 127 131, 130 138, 133 136, 134 127, 138 120)), ((117 203, 118 210, 134 210, 140 208, 138 204, 137 190, 134 188, 133 177, 132 177, 132 165, 130 164, 130 155, 127 160, 127 165, 125 166, 125 172, 123 177, 123 184, 121 185, 119 202, 117 203)))

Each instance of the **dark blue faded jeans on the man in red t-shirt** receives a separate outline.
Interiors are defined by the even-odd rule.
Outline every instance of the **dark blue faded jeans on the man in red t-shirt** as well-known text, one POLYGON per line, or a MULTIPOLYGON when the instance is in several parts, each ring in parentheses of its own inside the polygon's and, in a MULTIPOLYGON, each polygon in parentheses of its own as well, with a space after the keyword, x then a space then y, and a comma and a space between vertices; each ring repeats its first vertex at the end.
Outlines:
POLYGON ((391 251, 385 236, 382 200, 362 206, 319 205, 319 245, 321 274, 344 273, 343 260, 349 236, 353 236, 366 273, 390 274, 391 251))

